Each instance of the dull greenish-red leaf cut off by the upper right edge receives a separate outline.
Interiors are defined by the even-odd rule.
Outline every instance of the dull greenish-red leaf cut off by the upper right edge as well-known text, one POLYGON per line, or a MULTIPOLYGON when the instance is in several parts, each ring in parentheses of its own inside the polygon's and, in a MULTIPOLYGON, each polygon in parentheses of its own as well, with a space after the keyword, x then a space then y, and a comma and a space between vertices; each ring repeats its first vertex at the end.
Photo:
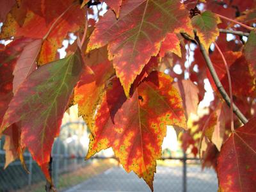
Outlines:
POLYGON ((254 72, 256 72, 256 31, 251 31, 246 44, 244 45, 244 56, 250 62, 254 72))

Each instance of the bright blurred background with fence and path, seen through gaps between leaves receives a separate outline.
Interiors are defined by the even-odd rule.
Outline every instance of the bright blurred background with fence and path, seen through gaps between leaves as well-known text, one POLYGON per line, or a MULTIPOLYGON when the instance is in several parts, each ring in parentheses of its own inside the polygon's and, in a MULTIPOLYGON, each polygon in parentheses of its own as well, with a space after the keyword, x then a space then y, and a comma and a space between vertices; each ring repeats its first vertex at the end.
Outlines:
MULTIPOLYGON (((96 22, 107 10, 106 4, 93 6, 88 18, 96 22)), ((0 23, 0 29, 3 23, 0 23)), ((67 54, 68 46, 74 44, 76 35, 70 33, 68 39, 63 41, 63 47, 58 52, 60 58, 67 54)), ((227 39, 232 37, 227 36, 227 39)), ((0 40, 0 44, 8 44, 12 40, 0 40)), ((195 45, 185 45, 185 67, 194 61, 195 45)), ((214 47, 212 47, 214 49, 214 47)), ((179 63, 173 63, 172 70, 175 74, 184 74, 184 79, 189 78, 188 70, 182 72, 179 63)), ((195 65, 195 72, 198 71, 195 65)), ((164 69, 166 74, 169 69, 164 69)), ((177 81, 177 79, 175 79, 177 81)), ((186 132, 178 134, 172 126, 168 126, 166 138, 162 145, 163 156, 157 161, 157 172, 154 177, 154 191, 207 191, 218 190, 216 172, 212 168, 202 169, 196 143, 200 132, 196 132, 193 122, 209 113, 208 107, 214 99, 213 91, 208 79, 204 79, 205 95, 198 106, 198 116, 191 116, 189 128, 193 132, 193 139, 186 132), (193 131, 194 130, 194 131, 193 131), (183 138, 182 138, 183 137, 183 138), (187 137, 187 138, 186 138, 187 137), (180 141, 188 141, 180 143, 180 141), (193 143, 194 142, 194 143, 193 143), (186 152, 184 152, 186 149, 186 152)), ((150 191, 143 179, 134 173, 126 173, 113 156, 113 150, 99 152, 96 156, 84 161, 88 150, 90 132, 82 118, 77 117, 77 106, 72 106, 65 113, 61 125, 60 136, 54 141, 52 148, 52 178, 58 191, 150 191)), ((0 140, 0 191, 45 191, 45 177, 39 166, 33 161, 29 152, 24 153, 27 173, 20 161, 15 161, 4 169, 5 152, 3 150, 4 137, 0 140)), ((207 166, 205 162, 204 166, 207 166)), ((210 164, 211 165, 211 164, 210 164)))

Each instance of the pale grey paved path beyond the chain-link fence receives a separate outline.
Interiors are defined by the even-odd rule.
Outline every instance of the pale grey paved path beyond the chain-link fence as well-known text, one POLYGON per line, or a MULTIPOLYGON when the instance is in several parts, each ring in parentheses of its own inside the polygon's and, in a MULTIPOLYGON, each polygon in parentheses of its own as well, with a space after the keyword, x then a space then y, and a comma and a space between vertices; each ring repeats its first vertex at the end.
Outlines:
MULTIPOLYGON (((188 166, 188 192, 216 192, 218 181, 213 170, 201 172, 200 166, 188 166)), ((150 191, 144 180, 134 173, 126 173, 122 168, 113 167, 65 192, 144 192, 150 191)), ((154 179, 155 192, 181 192, 182 167, 157 166, 154 179)))

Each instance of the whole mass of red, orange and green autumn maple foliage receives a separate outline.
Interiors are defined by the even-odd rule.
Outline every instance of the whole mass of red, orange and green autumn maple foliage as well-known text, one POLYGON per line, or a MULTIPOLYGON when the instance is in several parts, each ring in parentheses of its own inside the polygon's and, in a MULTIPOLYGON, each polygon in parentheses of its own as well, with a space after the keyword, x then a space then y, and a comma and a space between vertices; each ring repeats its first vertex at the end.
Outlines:
POLYGON ((26 169, 28 149, 52 188, 52 143, 63 114, 78 104, 91 132, 86 158, 111 147, 152 191, 166 125, 183 129, 184 150, 215 168, 219 191, 255 191, 255 6, 254 0, 1 1, 0 38, 10 42, 0 47, 6 166, 19 158, 26 169), (76 42, 60 59, 70 34, 76 42), (214 99, 202 115, 205 79, 214 99))

